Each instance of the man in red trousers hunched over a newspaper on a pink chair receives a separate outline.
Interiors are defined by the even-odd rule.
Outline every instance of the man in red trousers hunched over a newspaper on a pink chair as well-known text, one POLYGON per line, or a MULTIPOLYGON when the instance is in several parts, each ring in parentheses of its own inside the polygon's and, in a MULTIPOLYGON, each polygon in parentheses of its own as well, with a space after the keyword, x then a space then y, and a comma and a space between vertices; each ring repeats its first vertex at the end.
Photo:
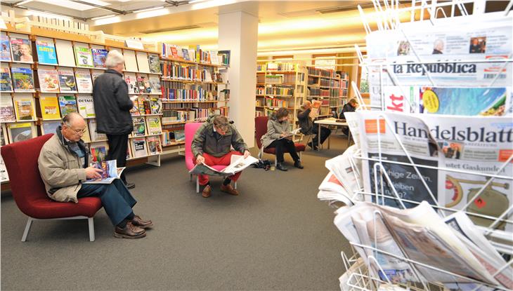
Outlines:
MULTIPOLYGON (((233 154, 243 154, 247 158, 249 151, 247 144, 242 140, 242 136, 235 129, 235 126, 228 122, 226 116, 213 115, 205 121, 200 128, 196 130, 193 143, 193 162, 205 165, 230 165, 230 159, 233 154), (232 151, 233 147, 235 151, 232 151)), ((233 176, 227 177, 221 185, 221 191, 230 195, 239 195, 239 191, 234 189, 230 182, 237 182, 240 174, 238 172, 233 176)), ((210 187, 208 175, 198 175, 200 185, 204 186, 202 191, 203 198, 210 197, 212 187, 210 187)))

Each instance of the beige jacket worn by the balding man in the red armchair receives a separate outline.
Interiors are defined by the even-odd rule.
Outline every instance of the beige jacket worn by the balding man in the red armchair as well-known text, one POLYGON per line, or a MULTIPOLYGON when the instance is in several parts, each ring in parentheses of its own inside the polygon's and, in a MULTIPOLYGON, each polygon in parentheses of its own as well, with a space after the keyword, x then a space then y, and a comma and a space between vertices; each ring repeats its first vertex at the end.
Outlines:
MULTIPOLYGON (((88 165, 89 151, 82 140, 78 144, 85 151, 85 164, 88 165)), ((43 145, 37 163, 46 194, 51 199, 78 203, 77 192, 82 187, 81 182, 86 181, 86 170, 77 154, 67 145, 60 127, 43 145)))

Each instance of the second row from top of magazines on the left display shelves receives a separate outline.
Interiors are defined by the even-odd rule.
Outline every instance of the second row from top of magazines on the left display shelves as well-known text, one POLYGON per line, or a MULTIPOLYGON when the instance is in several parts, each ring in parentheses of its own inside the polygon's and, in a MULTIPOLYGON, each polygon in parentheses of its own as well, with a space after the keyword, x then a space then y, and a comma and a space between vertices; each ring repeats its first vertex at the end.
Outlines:
MULTIPOLYGON (((37 67, 37 79, 30 65, 15 64, 10 68, 1 65, 0 92, 3 93, 93 93, 94 80, 103 71, 87 69, 70 69, 48 66, 37 67)), ((151 74, 124 73, 124 80, 129 87, 129 94, 161 95, 160 79, 151 74)))

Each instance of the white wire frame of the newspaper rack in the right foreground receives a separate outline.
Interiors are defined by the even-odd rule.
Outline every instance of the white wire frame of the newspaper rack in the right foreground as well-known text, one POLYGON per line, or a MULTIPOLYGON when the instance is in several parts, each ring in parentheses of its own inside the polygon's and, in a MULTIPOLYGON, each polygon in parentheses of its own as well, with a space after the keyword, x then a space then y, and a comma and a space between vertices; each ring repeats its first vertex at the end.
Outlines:
MULTIPOLYGON (((474 5, 474 11, 473 17, 476 17, 476 15, 481 15, 484 13, 484 6, 486 4, 486 1, 466 1, 466 0, 453 0, 453 1, 447 1, 443 3, 437 3, 437 1, 431 1, 431 3, 428 3, 428 1, 420 0, 420 1, 412 1, 412 5, 410 7, 406 8, 399 8, 399 3, 396 0, 382 1, 382 4, 379 0, 373 0, 372 3, 374 4, 375 8, 375 15, 373 15, 373 19, 376 19, 377 22, 377 29, 383 32, 387 32, 389 30, 395 30, 396 32, 401 32, 403 36, 406 36, 404 33, 402 26, 401 26, 401 20, 399 18, 399 15, 401 13, 410 13, 410 22, 414 22, 414 15, 415 11, 420 13, 420 19, 424 18, 424 12, 429 11, 429 20, 426 20, 427 22, 431 23, 431 25, 436 25, 439 22, 439 18, 437 18, 438 15, 442 15, 443 18, 453 18, 455 17, 455 11, 459 11, 462 17, 467 17, 469 15, 468 11, 465 8, 464 4, 470 4, 472 3, 474 5), (419 5, 420 4, 420 5, 419 5), (446 15, 446 11, 443 10, 444 7, 450 7, 450 15, 446 15)), ((507 17, 509 10, 513 7, 513 1, 509 1, 507 4, 507 8, 505 11, 500 13, 493 13, 494 16, 497 15, 503 15, 504 17, 507 17)), ((361 19, 363 22, 363 26, 365 28, 365 32, 367 34, 370 34, 371 29, 370 25, 368 23, 368 16, 365 15, 365 12, 363 9, 358 6, 358 11, 360 11, 361 19)), ((394 70, 390 69, 391 65, 396 65, 397 63, 392 64, 391 62, 388 62, 387 60, 384 60, 382 62, 376 63, 370 63, 368 60, 366 60, 363 57, 363 54, 361 53, 360 48, 356 46, 356 52, 358 53, 358 58, 360 60, 360 64, 362 66, 366 67, 377 67, 379 69, 379 94, 381 95, 381 104, 376 106, 375 104, 366 105, 365 102, 363 102, 363 98, 356 86, 356 83, 352 82, 351 86, 353 87, 353 90, 356 93, 356 97, 358 99, 358 102, 362 104, 362 106, 359 108, 359 110, 368 110, 368 109, 378 109, 378 110, 384 110, 384 95, 383 95, 383 77, 382 74, 387 74, 389 76, 389 79, 391 79, 394 83, 394 86, 400 86, 400 82, 398 81, 398 78, 394 74, 394 70), (386 73, 384 73, 386 72, 386 73)), ((430 63, 430 61, 422 60, 415 51, 413 51, 417 64, 420 64, 424 67, 424 65, 427 65, 430 63)), ((511 64, 513 61, 513 55, 508 55, 506 58, 502 60, 481 60, 477 62, 494 62, 494 63, 502 63, 502 67, 499 68, 499 72, 502 72, 502 69, 505 69, 505 66, 508 64, 511 64)), ((476 60, 458 60, 457 62, 476 62, 476 60)), ((427 79, 429 79, 429 83, 431 83, 431 86, 436 86, 436 82, 431 78, 429 75, 429 71, 426 70, 427 73, 427 79)), ((498 80, 499 74, 493 79, 491 79, 490 83, 488 83, 488 86, 486 87, 492 87, 494 83, 498 80)), ((513 85, 513 84, 512 84, 513 85)), ((509 86, 512 86, 509 85, 509 86)), ((413 106, 410 106, 410 108, 413 108, 413 106)), ((379 114, 379 119, 384 121, 384 126, 387 128, 392 128, 391 121, 387 118, 386 114, 379 114)), ((424 165, 420 163, 415 163, 412 156, 410 156, 410 152, 406 149, 405 145, 401 141, 401 138, 398 137, 398 135, 394 132, 394 130, 390 130, 391 133, 394 133, 395 141, 400 145, 404 156, 408 159, 408 162, 401 162, 401 161, 389 161, 387 159, 382 158, 382 137, 381 137, 381 130, 380 126, 382 126, 383 123, 377 122, 377 144, 378 144, 378 151, 377 151, 377 158, 370 158, 363 156, 360 151, 358 151, 356 154, 351 156, 350 163, 351 168, 353 170, 354 175, 360 175, 360 170, 356 166, 358 163, 358 160, 360 162, 366 161, 368 163, 372 162, 374 165, 372 165, 373 175, 374 175, 374 184, 373 187, 375 189, 374 192, 365 191, 363 189, 363 185, 358 183, 359 191, 356 191, 355 194, 351 197, 355 203, 361 203, 363 201, 368 201, 367 198, 374 198, 373 201, 377 205, 384 205, 385 199, 391 199, 394 201, 397 201, 401 208, 405 209, 405 203, 410 204, 420 204, 420 202, 417 201, 411 201, 405 198, 402 198, 399 194, 397 189, 394 187, 394 184, 391 182, 391 178, 389 177, 389 174, 387 173, 386 168, 384 165, 387 163, 389 164, 397 164, 397 165, 406 165, 413 170, 415 170, 415 173, 417 174, 417 177, 420 181, 422 181, 423 190, 427 191, 429 196, 431 196, 434 203, 431 203, 431 207, 434 208, 437 213, 441 217, 447 217, 448 215, 453 214, 453 212, 464 212, 469 217, 480 217, 484 219, 488 219, 493 221, 488 226, 475 226, 479 231, 483 233, 484 236, 488 239, 489 243, 493 245, 493 248, 497 250, 504 260, 504 264, 495 271, 495 273, 491 274, 493 278, 500 274, 502 271, 507 269, 508 267, 513 266, 513 233, 509 230, 500 230, 498 229, 498 226, 500 224, 507 224, 509 226, 513 226, 513 205, 509 205, 507 209, 502 212, 502 214, 495 216, 485 215, 482 213, 472 212, 469 210, 469 205, 474 203, 476 199, 483 194, 483 192, 486 190, 487 187, 490 185, 496 185, 494 181, 496 179, 501 180, 508 180, 510 181, 508 184, 505 185, 505 189, 507 187, 513 186, 513 177, 510 177, 508 175, 500 175, 500 172, 509 164, 513 163, 513 154, 509 156, 504 162, 501 162, 500 168, 493 174, 490 173, 484 173, 484 172, 478 172, 478 171, 471 171, 471 170, 459 170, 455 168, 446 168, 441 167, 439 165, 432 166, 432 165, 424 165), (427 185, 427 183, 424 181, 424 177, 421 173, 421 169, 431 169, 431 170, 439 170, 444 172, 455 172, 460 174, 470 174, 475 176, 481 176, 484 177, 486 182, 483 182, 482 185, 479 186, 479 190, 476 191, 473 197, 469 197, 467 203, 465 203, 465 206, 461 208, 461 210, 457 210, 454 208, 448 208, 443 205, 439 205, 437 199, 434 197, 434 194, 431 192, 431 189, 427 185), (379 183, 378 183, 379 182, 379 183), (389 189, 391 189, 391 195, 386 194, 384 191, 384 185, 387 185, 389 189), (500 241, 500 242, 499 242, 500 241), (507 259, 506 259, 507 258, 507 259)), ((513 148, 513 144, 512 144, 513 148)), ((363 174, 363 173, 362 173, 363 174)), ((358 182, 358 180, 356 180, 358 182)), ((439 181, 439 183, 442 183, 443 181, 439 181)), ((504 186, 504 185, 503 185, 504 186)), ((513 191, 513 190, 512 190, 513 191)), ((331 203, 330 203, 331 204, 331 203)), ((376 221, 376 219, 382 219, 380 212, 374 212, 373 219, 376 221)), ((389 226, 387 226, 388 228, 389 226)), ((507 228, 506 228, 507 229, 507 228)), ((511 227, 509 228, 511 229, 511 227)), ((376 230, 375 230, 376 231, 376 230)), ((389 229, 390 231, 390 229, 389 229)), ((377 243, 377 236, 374 236, 373 243, 374 245, 378 245, 377 243)), ((387 250, 375 248, 373 245, 366 245, 361 243, 354 243, 351 242, 351 249, 353 250, 353 253, 351 255, 348 255, 344 252, 342 252, 342 260, 344 262, 344 266, 346 269, 346 273, 344 273, 340 277, 340 287, 341 290, 445 290, 447 289, 447 286, 444 286, 441 282, 431 282, 429 280, 426 280, 423 278, 423 276, 420 275, 420 272, 418 269, 420 267, 434 270, 440 273, 444 273, 447 276, 451 276, 453 278, 458 278, 464 280, 466 283, 471 284, 467 285, 468 290, 486 290, 486 288, 492 288, 496 290, 508 290, 508 288, 502 286, 502 285, 492 285, 489 283, 484 283, 481 280, 476 280, 475 278, 469 278, 462 276, 458 273, 453 273, 451 271, 447 271, 444 269, 440 269, 437 266, 431 266, 427 264, 422 264, 422 262, 417 262, 413 259, 410 259, 408 255, 406 255, 405 250, 401 248, 401 254, 394 254, 391 252, 387 252, 387 250), (365 258, 365 263, 363 259, 360 257, 361 252, 357 252, 357 250, 365 250, 364 254, 372 254, 367 255, 365 258), (404 262, 405 264, 408 264, 410 266, 411 270, 413 271, 413 276, 416 278, 416 282, 408 282, 408 283, 399 283, 399 282, 392 282, 389 279, 389 276, 386 275, 384 270, 382 269, 382 266, 379 264, 379 260, 377 259, 378 255, 386 255, 388 257, 394 257, 401 262, 404 262), (370 271, 370 265, 374 266, 374 269, 378 269, 381 271, 382 274, 384 274, 384 278, 380 278, 377 276, 377 274, 370 271), (474 284, 474 285, 472 285, 474 284)), ((512 274, 513 275, 513 274, 512 274)), ((455 280, 456 282, 457 280, 455 280)), ((462 282, 460 280, 460 282, 462 282)))

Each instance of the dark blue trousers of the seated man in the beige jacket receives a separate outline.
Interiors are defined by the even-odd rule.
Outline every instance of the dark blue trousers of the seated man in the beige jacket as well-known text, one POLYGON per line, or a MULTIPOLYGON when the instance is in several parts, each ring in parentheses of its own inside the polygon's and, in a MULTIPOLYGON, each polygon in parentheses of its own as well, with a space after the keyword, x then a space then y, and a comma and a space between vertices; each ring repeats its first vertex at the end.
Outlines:
POLYGON ((119 179, 112 184, 82 184, 77 198, 100 197, 101 204, 114 226, 117 226, 132 212, 136 199, 119 179))

